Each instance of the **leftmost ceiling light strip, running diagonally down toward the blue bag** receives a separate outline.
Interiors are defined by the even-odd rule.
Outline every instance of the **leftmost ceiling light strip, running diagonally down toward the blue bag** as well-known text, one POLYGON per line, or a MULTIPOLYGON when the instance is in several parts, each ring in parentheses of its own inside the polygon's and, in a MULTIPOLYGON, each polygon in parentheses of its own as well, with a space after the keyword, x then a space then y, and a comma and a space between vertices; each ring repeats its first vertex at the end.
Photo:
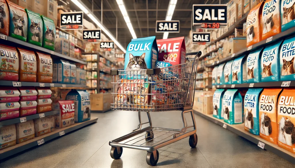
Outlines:
POLYGON ((88 9, 83 3, 80 2, 80 0, 71 0, 74 4, 76 4, 87 16, 97 25, 99 28, 107 35, 109 38, 114 41, 114 43, 121 49, 124 53, 126 53, 126 50, 124 47, 117 41, 116 38, 109 32, 104 25, 101 24, 101 22, 96 18, 96 16, 93 15, 92 12, 90 12, 90 9, 88 9))

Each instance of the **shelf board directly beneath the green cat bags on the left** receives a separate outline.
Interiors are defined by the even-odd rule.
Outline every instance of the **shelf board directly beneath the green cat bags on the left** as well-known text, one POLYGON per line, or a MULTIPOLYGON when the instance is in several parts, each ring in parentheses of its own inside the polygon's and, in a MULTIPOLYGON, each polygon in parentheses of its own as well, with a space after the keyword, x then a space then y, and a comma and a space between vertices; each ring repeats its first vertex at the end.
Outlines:
POLYGON ((24 49, 28 49, 28 50, 31 50, 31 51, 38 51, 38 52, 40 51, 40 52, 45 53, 45 54, 51 54, 51 57, 53 57, 53 58, 64 59, 64 60, 67 60, 67 61, 73 62, 73 63, 80 63, 80 64, 84 64, 84 65, 87 64, 86 62, 78 60, 76 58, 65 56, 63 54, 51 51, 49 49, 45 49, 43 47, 36 46, 34 44, 30 44, 30 43, 27 43, 27 42, 22 41, 22 40, 12 38, 10 36, 7 36, 7 40, 0 39, 0 44, 5 44, 5 45, 8 45, 8 46, 24 48, 24 49))

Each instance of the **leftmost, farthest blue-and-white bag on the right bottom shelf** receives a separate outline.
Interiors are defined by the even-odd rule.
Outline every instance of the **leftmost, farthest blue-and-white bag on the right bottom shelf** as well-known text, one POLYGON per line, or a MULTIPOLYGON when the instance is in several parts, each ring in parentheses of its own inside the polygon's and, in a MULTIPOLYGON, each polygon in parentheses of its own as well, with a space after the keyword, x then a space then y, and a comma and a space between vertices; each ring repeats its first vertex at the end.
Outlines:
POLYGON ((224 89, 216 89, 213 94, 213 117, 218 119, 223 119, 223 114, 221 115, 221 108, 224 92, 224 89))

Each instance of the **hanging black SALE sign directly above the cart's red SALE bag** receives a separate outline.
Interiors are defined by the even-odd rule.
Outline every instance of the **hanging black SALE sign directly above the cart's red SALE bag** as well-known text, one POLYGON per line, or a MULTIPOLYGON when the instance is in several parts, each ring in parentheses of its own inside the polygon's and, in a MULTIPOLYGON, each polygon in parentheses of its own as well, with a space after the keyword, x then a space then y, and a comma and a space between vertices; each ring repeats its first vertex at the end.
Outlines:
POLYGON ((179 33, 180 21, 165 21, 165 20, 157 20, 156 21, 156 33, 179 33))

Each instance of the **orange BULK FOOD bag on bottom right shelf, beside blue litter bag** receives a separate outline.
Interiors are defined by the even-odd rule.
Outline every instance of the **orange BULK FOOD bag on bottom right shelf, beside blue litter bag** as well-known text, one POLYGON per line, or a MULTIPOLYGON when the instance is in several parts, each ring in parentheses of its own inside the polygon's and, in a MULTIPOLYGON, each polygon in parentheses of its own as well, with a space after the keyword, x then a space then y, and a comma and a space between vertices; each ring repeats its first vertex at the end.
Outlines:
POLYGON ((277 102, 282 89, 263 89, 259 98, 260 137, 278 144, 277 102))

